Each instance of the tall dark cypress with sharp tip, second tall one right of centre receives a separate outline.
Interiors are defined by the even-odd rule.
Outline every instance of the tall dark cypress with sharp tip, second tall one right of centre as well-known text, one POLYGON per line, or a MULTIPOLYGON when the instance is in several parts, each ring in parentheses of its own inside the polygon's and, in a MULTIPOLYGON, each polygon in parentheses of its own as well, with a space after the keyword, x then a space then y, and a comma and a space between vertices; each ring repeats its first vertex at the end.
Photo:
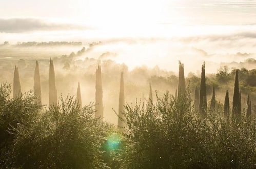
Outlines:
POLYGON ((205 80, 205 62, 202 65, 200 96, 199 96, 199 112, 202 117, 206 116, 207 98, 206 98, 206 80, 205 80))

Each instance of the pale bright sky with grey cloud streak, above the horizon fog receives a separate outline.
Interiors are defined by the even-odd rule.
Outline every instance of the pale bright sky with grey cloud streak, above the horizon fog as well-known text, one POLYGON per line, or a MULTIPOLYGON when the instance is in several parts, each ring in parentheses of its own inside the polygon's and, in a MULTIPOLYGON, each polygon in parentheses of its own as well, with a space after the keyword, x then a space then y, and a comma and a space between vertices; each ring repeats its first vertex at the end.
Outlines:
POLYGON ((251 32, 256 25, 255 0, 0 0, 0 13, 0 38, 10 41, 25 33, 27 40, 47 40, 45 33, 61 40, 183 37, 251 32))

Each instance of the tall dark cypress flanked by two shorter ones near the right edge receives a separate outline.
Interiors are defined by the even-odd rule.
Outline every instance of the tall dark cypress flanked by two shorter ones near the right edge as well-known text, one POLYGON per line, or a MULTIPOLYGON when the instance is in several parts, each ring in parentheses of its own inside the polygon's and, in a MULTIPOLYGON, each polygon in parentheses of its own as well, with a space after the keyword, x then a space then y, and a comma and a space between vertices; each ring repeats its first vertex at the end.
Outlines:
POLYGON ((239 92, 238 70, 235 71, 232 117, 241 118, 241 93, 239 92))

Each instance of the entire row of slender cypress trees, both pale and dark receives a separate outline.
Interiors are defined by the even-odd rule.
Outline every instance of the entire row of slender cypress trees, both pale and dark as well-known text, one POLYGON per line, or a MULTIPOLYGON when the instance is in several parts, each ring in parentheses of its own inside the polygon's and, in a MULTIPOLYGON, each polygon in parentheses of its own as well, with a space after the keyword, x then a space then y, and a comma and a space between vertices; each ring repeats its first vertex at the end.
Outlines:
MULTIPOLYGON (((42 104, 41 98, 41 80, 38 62, 35 63, 34 71, 34 94, 37 96, 37 102, 42 104)), ((96 81, 95 81, 95 116, 103 118, 103 89, 102 89, 102 73, 101 66, 99 65, 96 69, 96 81)), ((186 93, 185 76, 184 76, 184 64, 179 61, 179 84, 178 84, 178 97, 186 93)), ((19 97, 22 95, 21 83, 19 81, 18 68, 15 66, 14 78, 13 78, 13 97, 19 97)), ((177 90, 175 92, 175 97, 177 97, 177 90)), ((80 83, 78 82, 76 99, 81 105, 82 109, 82 97, 80 90, 80 83)), ((49 65, 49 105, 57 103, 57 90, 55 86, 55 73, 53 60, 50 59, 49 65)), ((151 83, 149 84, 149 104, 152 104, 152 88, 151 83)), ((119 118, 118 125, 124 126, 124 121, 122 120, 123 115, 121 112, 124 111, 125 95, 124 95, 124 74, 121 73, 120 79, 120 95, 119 95, 119 118)), ((210 101, 210 109, 214 110, 216 107, 215 99, 215 88, 212 89, 212 97, 210 101)), ((201 85, 200 88, 196 87, 194 92, 194 109, 199 111, 202 117, 206 116, 207 112, 207 98, 206 98, 206 78, 205 78, 205 62, 202 65, 201 72, 201 85)), ((251 115, 251 101, 250 96, 247 98, 247 116, 251 115)), ((225 102, 224 102, 224 116, 229 116, 229 93, 226 91, 225 102)), ((234 82, 234 94, 233 94, 233 106, 232 106, 232 116, 235 118, 241 118, 241 92, 239 91, 239 72, 235 72, 235 82, 234 82)))

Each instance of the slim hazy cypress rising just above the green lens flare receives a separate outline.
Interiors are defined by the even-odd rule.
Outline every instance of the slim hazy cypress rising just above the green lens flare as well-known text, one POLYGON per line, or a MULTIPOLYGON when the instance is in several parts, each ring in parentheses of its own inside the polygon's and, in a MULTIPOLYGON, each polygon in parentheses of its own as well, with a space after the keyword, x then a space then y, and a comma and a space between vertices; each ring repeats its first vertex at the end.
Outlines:
POLYGON ((124 73, 121 73, 121 79, 120 79, 120 93, 119 93, 119 119, 118 119, 118 126, 120 128, 123 128, 125 126, 125 123, 123 121, 124 117, 124 105, 125 105, 125 90, 124 90, 124 73))

